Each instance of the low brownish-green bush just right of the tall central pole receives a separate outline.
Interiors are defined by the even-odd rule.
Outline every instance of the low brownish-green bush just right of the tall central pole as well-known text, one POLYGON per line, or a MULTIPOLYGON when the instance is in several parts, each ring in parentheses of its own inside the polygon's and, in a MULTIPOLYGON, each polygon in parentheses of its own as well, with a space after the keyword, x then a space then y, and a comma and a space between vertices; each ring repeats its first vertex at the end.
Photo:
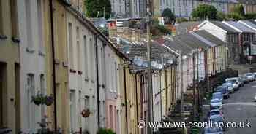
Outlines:
POLYGON ((152 20, 151 33, 152 36, 163 36, 170 35, 171 31, 165 25, 160 25, 157 19, 154 19, 152 20))

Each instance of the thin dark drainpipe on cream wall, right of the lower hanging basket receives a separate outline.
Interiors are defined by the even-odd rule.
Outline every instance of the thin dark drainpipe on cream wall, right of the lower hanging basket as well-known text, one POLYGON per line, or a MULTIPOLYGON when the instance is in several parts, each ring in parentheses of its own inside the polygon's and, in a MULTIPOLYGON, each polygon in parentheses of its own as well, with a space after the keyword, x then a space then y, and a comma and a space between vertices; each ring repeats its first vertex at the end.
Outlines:
POLYGON ((95 57, 96 57, 96 79, 97 79, 97 114, 98 114, 98 129, 100 128, 100 108, 99 108, 99 66, 98 66, 98 35, 94 36, 94 40, 95 40, 95 57))

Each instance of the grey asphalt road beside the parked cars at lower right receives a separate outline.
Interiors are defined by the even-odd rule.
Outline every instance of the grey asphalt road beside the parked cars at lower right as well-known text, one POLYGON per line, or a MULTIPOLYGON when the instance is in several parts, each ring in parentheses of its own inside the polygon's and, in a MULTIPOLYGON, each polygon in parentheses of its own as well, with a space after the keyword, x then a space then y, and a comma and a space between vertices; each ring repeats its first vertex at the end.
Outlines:
POLYGON ((256 82, 250 82, 224 101, 223 111, 227 122, 251 122, 251 128, 228 128, 225 134, 256 133, 256 103, 253 102, 255 93, 256 82))

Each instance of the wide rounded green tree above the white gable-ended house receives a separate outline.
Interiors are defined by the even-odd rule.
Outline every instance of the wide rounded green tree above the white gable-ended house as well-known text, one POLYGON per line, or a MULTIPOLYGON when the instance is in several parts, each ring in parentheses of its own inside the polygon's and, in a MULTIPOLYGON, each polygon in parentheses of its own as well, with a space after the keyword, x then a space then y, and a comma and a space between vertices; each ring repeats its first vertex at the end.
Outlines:
POLYGON ((200 4, 197 8, 192 10, 191 13, 192 17, 206 19, 210 20, 216 20, 217 19, 217 9, 214 6, 208 5, 208 4, 200 4))

